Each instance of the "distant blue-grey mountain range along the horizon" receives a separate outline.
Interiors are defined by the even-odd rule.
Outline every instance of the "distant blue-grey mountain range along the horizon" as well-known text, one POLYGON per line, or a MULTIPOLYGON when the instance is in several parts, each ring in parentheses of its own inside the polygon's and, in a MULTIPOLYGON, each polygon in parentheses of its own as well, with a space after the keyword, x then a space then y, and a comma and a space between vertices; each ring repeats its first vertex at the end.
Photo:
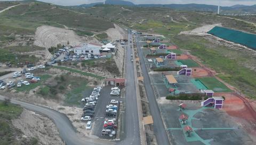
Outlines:
MULTIPOLYGON (((91 4, 82 4, 78 7, 92 7, 95 5, 103 4, 100 3, 91 3, 91 4)), ((124 5, 124 6, 138 6, 138 7, 165 7, 175 10, 189 10, 189 11, 206 11, 206 12, 217 12, 217 5, 206 5, 206 4, 133 4, 132 2, 121 1, 121 0, 106 0, 105 4, 111 5, 124 5)), ((221 6, 221 11, 224 13, 256 13, 256 4, 255 5, 233 5, 233 6, 221 6)))

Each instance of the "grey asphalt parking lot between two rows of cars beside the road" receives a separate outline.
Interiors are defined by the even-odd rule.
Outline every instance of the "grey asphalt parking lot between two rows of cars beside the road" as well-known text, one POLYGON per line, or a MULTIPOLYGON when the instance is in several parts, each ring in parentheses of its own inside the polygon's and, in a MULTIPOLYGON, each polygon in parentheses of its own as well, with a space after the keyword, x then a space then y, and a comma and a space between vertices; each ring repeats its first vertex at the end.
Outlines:
POLYGON ((118 104, 115 104, 118 107, 117 114, 116 114, 116 123, 115 123, 115 125, 117 125, 116 134, 118 134, 117 130, 118 130, 118 127, 120 127, 118 124, 118 115, 119 115, 119 108, 120 108, 119 101, 122 101, 123 99, 120 98, 120 96, 110 95, 111 87, 113 86, 105 86, 102 88, 98 101, 95 104, 94 116, 92 118, 92 134, 99 136, 99 138, 103 138, 103 139, 115 138, 115 136, 110 137, 108 135, 102 135, 103 122, 105 120, 105 114, 106 114, 106 106, 110 104, 111 100, 118 101, 118 104))

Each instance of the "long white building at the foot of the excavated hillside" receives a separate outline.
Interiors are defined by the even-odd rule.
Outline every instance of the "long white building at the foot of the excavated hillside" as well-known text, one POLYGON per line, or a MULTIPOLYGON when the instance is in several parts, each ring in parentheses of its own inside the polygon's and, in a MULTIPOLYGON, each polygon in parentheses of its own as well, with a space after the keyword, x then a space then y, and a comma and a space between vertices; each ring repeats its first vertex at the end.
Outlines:
POLYGON ((100 55, 100 50, 101 50, 102 44, 99 43, 86 43, 82 44, 81 46, 76 46, 74 47, 74 53, 91 53, 93 55, 100 55))

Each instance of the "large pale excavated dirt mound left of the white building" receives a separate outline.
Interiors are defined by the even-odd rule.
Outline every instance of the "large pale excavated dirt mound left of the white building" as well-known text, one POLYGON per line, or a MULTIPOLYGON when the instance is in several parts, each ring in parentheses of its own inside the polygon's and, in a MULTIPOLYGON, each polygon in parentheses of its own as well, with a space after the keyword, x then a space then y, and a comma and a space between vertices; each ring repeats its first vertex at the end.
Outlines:
POLYGON ((82 39, 73 30, 66 30, 52 26, 40 26, 36 29, 35 45, 49 48, 58 44, 75 46, 82 43, 82 39))

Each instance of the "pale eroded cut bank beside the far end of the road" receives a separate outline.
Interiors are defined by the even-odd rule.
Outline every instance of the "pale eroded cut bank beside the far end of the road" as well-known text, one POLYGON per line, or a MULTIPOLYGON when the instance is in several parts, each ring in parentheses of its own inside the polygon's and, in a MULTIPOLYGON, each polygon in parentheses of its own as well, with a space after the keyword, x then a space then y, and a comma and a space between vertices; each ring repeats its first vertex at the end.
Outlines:
POLYGON ((114 26, 115 28, 109 28, 108 30, 106 30, 106 33, 108 34, 108 38, 110 39, 110 41, 116 41, 127 37, 126 31, 123 28, 119 27, 116 24, 114 24, 114 26))

